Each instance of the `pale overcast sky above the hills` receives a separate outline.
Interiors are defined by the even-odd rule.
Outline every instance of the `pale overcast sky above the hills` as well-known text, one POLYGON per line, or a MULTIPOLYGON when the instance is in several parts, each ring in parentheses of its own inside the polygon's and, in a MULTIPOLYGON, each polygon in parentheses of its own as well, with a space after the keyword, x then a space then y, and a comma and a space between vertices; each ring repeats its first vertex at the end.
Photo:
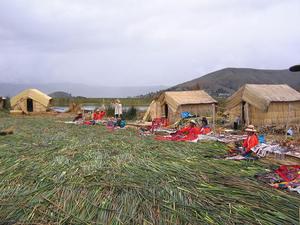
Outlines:
POLYGON ((299 0, 0 0, 6 82, 173 85, 300 62, 299 0))

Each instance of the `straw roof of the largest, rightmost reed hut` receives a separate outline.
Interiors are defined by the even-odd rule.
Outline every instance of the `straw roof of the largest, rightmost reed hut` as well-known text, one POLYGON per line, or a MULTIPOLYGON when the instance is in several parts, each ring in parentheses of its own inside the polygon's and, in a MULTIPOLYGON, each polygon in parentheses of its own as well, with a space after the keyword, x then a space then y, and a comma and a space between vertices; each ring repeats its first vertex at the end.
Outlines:
POLYGON ((227 108, 234 108, 243 101, 267 111, 271 102, 300 101, 300 93, 286 84, 246 84, 228 99, 227 108))

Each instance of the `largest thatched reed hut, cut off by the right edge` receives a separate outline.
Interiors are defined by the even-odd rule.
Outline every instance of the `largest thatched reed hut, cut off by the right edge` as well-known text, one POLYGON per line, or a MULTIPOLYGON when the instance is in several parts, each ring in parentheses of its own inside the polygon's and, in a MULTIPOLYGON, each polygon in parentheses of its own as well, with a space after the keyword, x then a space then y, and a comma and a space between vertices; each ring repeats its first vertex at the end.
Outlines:
POLYGON ((246 84, 227 100, 233 122, 256 126, 300 123, 300 93, 288 85, 246 84))

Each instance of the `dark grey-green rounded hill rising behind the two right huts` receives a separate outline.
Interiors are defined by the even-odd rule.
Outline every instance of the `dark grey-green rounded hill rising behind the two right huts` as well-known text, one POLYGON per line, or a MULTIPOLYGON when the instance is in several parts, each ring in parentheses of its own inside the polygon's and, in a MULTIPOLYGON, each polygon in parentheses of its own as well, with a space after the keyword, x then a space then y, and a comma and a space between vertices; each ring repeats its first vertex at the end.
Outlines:
POLYGON ((244 84, 288 84, 299 91, 300 72, 290 72, 289 70, 225 68, 178 84, 167 90, 204 89, 214 96, 228 96, 244 84))

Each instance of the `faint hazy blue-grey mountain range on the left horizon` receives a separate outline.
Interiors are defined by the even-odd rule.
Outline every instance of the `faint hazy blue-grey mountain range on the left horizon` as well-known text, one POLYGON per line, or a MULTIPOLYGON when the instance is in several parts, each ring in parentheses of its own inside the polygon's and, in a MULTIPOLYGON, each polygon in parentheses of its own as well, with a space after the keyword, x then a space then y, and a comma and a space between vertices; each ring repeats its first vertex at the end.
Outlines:
POLYGON ((92 86, 85 84, 73 83, 50 83, 50 84, 12 84, 0 83, 0 96, 14 96, 20 91, 27 88, 37 88, 47 94, 57 90, 62 90, 66 93, 71 93, 73 96, 85 97, 101 97, 101 98, 116 98, 116 97, 132 97, 149 92, 166 89, 166 86, 143 86, 143 87, 107 87, 107 86, 92 86))

